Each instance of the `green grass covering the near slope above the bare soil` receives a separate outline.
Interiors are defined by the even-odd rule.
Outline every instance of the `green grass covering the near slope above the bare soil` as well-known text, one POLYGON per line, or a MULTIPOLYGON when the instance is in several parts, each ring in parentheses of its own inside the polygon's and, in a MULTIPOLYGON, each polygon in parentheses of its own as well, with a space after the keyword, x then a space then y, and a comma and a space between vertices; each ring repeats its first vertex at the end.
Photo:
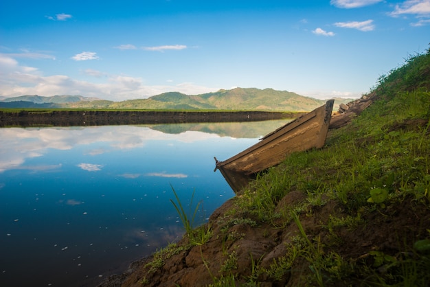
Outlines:
MULTIPOLYGON (((258 176, 236 198, 242 212, 253 214, 261 222, 279 224, 280 214, 275 207, 280 198, 292 190, 307 194, 305 203, 291 207, 297 214, 281 215, 284 221, 293 219, 306 242, 294 247, 296 256, 310 262, 312 275, 306 284, 343 282, 357 268, 357 262, 325 251, 327 244, 341 244, 336 241, 335 229, 353 230, 365 225, 363 214, 375 210, 383 214, 390 205, 401 205, 405 200, 415 200, 430 209, 429 59, 429 53, 411 57, 405 66, 381 78, 379 86, 371 91, 379 100, 346 128, 330 132, 325 148, 291 154, 284 163, 258 176), (427 73, 427 78, 422 73, 427 73), (300 225, 299 215, 312 216, 311 210, 327 200, 337 201, 346 216, 330 216, 326 228, 331 242, 319 238, 311 241, 300 225)), ((387 265, 387 274, 374 273, 367 266, 360 267, 359 272, 367 274, 367 283, 376 286, 425 286, 430 257, 411 253, 407 244, 403 249, 415 255, 370 255, 383 260, 381 265, 387 265)), ((276 274, 277 270, 273 267, 266 272, 276 274)))

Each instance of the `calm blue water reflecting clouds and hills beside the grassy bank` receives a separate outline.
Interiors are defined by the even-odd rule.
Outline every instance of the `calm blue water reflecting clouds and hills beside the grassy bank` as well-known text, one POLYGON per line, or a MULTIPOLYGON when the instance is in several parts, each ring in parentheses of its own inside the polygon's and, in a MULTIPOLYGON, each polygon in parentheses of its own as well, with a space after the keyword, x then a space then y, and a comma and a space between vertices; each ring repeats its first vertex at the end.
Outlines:
POLYGON ((234 196, 223 160, 287 121, 0 128, 0 286, 91 286, 234 196))

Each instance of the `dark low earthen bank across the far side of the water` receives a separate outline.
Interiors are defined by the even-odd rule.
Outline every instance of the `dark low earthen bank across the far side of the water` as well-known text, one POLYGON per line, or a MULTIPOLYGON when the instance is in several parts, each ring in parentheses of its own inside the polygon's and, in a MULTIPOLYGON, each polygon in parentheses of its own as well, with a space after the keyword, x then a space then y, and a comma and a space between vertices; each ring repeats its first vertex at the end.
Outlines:
POLYGON ((98 111, 2 109, 0 127, 107 126, 125 124, 179 124, 189 122, 256 122, 296 118, 305 113, 269 111, 98 111))

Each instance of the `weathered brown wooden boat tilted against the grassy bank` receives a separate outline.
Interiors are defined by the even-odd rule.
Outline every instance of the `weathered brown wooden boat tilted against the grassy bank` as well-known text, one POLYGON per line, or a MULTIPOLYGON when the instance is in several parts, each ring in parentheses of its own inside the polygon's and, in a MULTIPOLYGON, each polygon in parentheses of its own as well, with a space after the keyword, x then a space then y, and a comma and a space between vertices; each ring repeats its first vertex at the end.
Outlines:
MULTIPOLYGON (((252 176, 283 161, 287 154, 310 148, 322 148, 326 143, 328 126, 335 100, 328 100, 324 106, 298 117, 260 139, 258 143, 225 161, 216 161, 215 170, 220 170, 227 182, 243 185, 238 176, 252 176)), ((231 186, 233 190, 236 190, 231 186)), ((238 187, 237 187, 238 188, 238 187)))

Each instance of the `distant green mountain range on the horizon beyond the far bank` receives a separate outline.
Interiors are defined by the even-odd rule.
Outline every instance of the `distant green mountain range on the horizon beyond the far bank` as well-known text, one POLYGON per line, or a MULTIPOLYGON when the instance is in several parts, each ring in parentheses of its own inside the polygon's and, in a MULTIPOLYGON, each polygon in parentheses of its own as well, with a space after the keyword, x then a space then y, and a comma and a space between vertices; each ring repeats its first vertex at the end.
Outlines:
MULTIPOLYGON (((335 108, 354 99, 335 98, 335 108)), ((147 99, 113 102, 81 95, 21 95, 0 100, 3 108, 113 108, 163 110, 241 110, 241 111, 312 111, 326 100, 317 100, 289 91, 274 89, 221 89, 214 93, 185 95, 161 93, 147 99)))

